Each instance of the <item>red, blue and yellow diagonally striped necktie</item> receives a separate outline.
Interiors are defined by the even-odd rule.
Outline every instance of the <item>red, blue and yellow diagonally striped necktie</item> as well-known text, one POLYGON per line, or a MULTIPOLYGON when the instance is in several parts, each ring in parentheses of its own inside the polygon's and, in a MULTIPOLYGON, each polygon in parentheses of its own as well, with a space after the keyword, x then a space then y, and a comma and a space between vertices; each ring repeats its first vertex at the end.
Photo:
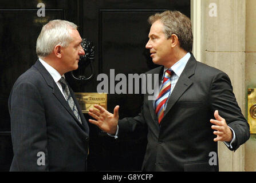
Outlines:
POLYGON ((164 73, 163 85, 160 89, 159 95, 155 101, 155 112, 158 118, 158 123, 160 124, 162 118, 164 117, 164 104, 171 92, 171 74, 172 70, 168 69, 164 73))

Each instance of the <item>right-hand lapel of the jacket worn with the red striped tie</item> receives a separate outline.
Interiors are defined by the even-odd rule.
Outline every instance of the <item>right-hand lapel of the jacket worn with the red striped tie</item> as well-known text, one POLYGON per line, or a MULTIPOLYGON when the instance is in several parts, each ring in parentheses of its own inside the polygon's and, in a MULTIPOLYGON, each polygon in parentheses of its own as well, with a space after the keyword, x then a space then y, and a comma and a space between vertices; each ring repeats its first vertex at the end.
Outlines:
POLYGON ((166 110, 164 111, 164 116, 169 112, 169 110, 174 106, 176 101, 186 92, 186 90, 192 85, 190 77, 194 75, 196 67, 196 59, 194 55, 191 54, 190 59, 188 59, 187 65, 185 66, 182 74, 180 75, 178 82, 176 83, 174 90, 169 97, 167 102, 166 110))

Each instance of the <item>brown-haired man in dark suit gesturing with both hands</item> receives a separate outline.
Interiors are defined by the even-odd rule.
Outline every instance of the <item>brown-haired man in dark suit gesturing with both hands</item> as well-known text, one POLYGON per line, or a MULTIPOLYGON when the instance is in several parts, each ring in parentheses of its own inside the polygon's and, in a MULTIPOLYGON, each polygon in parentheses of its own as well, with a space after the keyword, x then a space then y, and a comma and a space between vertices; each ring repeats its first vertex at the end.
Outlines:
MULTIPOLYGON (((121 137, 139 126, 147 128, 145 171, 218 171, 217 141, 236 150, 249 136, 249 125, 235 99, 227 74, 196 61, 192 55, 190 19, 179 11, 149 17, 146 48, 154 63, 162 65, 146 74, 159 74, 155 100, 144 94, 141 112, 119 120, 96 106, 89 120, 105 132, 121 137)), ((148 82, 147 82, 148 83, 148 82)))

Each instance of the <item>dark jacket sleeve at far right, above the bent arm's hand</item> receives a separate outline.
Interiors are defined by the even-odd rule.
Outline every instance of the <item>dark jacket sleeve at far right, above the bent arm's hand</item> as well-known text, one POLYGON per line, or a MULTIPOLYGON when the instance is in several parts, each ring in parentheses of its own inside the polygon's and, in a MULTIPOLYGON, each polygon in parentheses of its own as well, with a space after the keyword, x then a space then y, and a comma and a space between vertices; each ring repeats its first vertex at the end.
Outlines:
POLYGON ((212 80, 210 91, 210 104, 212 114, 219 110, 219 115, 225 118, 227 125, 234 130, 235 141, 233 149, 236 150, 250 137, 250 128, 241 109, 237 104, 230 78, 225 73, 217 74, 212 80))

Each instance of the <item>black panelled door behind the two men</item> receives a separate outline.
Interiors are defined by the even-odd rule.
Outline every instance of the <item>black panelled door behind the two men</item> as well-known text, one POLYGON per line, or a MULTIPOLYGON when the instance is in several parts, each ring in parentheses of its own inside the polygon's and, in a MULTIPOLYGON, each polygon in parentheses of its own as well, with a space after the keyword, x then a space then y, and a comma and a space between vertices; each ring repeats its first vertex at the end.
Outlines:
MULTIPOLYGON (((51 19, 76 23, 81 37, 96 47, 94 77, 74 81, 66 74, 74 92, 97 92, 97 75, 110 69, 115 74, 141 74, 156 67, 145 49, 149 15, 179 10, 190 17, 190 0, 93 0, 93 1, 7 1, 0 2, 0 171, 8 171, 13 157, 8 97, 16 79, 36 62, 36 40, 42 25, 51 19), (37 16, 38 3, 45 4, 45 17, 37 16)), ((85 70, 90 75, 89 67, 85 70)), ((108 94, 108 110, 120 105, 120 118, 136 116, 140 94, 108 94)), ((85 114, 86 119, 89 118, 85 114)), ((115 140, 90 125, 89 171, 140 170, 147 140, 135 136, 115 140)))

